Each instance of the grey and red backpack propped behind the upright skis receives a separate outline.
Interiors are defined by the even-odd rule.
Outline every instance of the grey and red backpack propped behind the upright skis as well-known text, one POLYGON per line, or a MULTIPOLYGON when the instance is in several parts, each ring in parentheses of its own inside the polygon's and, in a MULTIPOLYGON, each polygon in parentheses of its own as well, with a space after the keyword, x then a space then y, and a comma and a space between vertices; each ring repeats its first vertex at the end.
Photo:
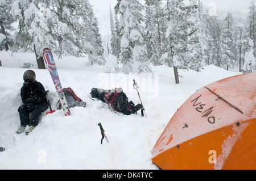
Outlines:
MULTIPOLYGON (((70 87, 63 88, 63 92, 64 92, 64 95, 67 100, 69 108, 76 107, 76 106, 79 106, 79 107, 86 106, 86 102, 82 102, 82 99, 80 99, 79 96, 77 96, 75 94, 75 92, 70 87)), ((61 106, 60 100, 58 100, 56 106, 59 110, 61 109, 62 106, 61 106)))

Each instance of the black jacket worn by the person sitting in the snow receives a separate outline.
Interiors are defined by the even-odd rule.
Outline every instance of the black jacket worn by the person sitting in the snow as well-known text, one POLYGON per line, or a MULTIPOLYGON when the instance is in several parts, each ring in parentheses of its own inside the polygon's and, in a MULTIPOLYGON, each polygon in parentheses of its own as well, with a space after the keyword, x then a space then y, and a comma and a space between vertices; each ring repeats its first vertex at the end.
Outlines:
POLYGON ((40 82, 24 83, 20 89, 20 96, 24 104, 34 103, 42 104, 47 103, 46 90, 40 82))

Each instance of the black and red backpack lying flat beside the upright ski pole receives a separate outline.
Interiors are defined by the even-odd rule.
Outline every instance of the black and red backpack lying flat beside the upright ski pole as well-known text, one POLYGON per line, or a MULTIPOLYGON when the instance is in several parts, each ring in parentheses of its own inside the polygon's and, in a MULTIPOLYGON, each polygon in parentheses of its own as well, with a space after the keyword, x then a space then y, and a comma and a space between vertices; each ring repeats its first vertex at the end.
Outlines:
POLYGON ((100 99, 102 102, 109 104, 113 110, 122 112, 125 115, 137 113, 142 108, 141 104, 134 106, 132 101, 129 102, 122 88, 112 90, 93 88, 90 94, 92 98, 100 99))

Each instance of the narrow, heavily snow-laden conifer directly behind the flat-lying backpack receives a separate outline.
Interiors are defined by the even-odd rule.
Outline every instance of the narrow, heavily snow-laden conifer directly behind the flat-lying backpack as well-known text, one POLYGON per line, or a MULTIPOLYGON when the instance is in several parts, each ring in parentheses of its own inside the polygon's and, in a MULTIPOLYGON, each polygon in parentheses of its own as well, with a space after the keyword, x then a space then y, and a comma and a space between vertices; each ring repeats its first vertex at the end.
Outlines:
POLYGON ((121 60, 123 72, 150 71, 143 37, 143 6, 138 0, 118 0, 115 11, 122 26, 121 60))

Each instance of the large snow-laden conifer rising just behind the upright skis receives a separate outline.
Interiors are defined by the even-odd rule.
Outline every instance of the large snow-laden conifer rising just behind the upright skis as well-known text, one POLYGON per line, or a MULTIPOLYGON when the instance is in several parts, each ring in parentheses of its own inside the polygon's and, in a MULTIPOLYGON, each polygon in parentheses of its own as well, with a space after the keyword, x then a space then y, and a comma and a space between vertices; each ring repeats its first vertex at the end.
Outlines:
POLYGON ((15 50, 34 50, 35 45, 39 54, 44 47, 57 52, 57 37, 68 33, 67 24, 58 20, 53 7, 39 0, 15 0, 11 13, 19 22, 19 31, 14 35, 15 50))

